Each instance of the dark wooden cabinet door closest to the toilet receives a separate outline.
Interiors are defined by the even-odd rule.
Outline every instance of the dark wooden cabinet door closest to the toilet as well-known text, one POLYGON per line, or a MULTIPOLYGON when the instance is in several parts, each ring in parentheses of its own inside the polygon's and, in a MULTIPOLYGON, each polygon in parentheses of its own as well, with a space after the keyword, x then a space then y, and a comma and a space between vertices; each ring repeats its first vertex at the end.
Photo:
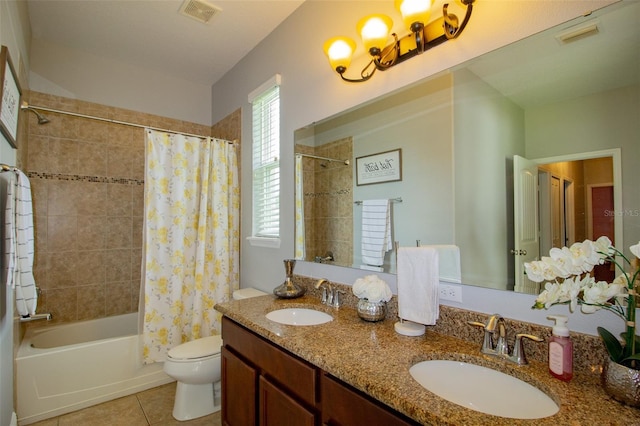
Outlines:
POLYGON ((222 424, 253 426, 256 422, 258 372, 222 348, 222 424))

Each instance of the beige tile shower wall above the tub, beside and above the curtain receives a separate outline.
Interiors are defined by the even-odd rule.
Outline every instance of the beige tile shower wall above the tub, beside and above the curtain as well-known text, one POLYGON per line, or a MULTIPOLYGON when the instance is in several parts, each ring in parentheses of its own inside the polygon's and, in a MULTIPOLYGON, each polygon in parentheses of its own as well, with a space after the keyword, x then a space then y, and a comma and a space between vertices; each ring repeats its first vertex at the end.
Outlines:
MULTIPOLYGON (((29 103, 207 135, 208 126, 41 93, 29 103)), ((34 198, 39 311, 75 321, 138 310, 144 129, 29 113, 26 172, 34 198)))

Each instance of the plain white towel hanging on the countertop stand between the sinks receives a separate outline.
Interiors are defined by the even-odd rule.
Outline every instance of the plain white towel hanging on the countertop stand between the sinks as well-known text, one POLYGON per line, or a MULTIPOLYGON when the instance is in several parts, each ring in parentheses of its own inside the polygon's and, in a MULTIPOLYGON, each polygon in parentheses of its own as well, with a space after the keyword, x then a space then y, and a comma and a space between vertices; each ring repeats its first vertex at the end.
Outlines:
POLYGON ((434 325, 440 315, 438 251, 430 247, 398 249, 398 316, 434 325))

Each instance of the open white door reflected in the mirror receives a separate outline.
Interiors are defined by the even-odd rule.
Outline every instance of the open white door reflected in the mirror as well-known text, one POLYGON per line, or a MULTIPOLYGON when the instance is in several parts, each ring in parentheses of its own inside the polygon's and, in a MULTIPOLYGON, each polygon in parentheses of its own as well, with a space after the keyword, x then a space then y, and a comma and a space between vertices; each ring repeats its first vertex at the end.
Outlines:
POLYGON ((537 294, 538 283, 525 275, 524 264, 540 257, 538 224, 538 165, 518 155, 513 156, 513 215, 515 291, 537 294))

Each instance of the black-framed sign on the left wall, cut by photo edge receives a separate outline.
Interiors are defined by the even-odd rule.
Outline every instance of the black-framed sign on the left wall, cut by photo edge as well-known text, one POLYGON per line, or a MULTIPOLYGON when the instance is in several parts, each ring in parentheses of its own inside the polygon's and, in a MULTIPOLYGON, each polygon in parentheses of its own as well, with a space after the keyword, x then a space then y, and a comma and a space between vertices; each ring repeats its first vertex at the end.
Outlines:
POLYGON ((20 84, 9 57, 7 46, 0 48, 0 131, 14 148, 18 147, 18 114, 20 113, 20 84))

